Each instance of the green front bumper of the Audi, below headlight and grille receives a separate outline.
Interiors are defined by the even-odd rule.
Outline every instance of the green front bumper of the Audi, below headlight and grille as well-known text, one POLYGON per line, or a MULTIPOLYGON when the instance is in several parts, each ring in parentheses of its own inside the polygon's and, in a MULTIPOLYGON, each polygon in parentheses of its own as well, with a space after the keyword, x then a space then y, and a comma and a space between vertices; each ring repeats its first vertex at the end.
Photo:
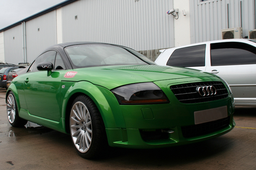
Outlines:
POLYGON ((232 94, 229 93, 227 98, 216 101, 184 104, 179 102, 169 90, 170 84, 167 83, 164 86, 166 88, 161 86, 160 88, 169 97, 170 103, 168 104, 120 105, 125 127, 106 128, 110 146, 170 147, 215 138, 235 127, 236 124, 233 120, 235 105, 232 94), (223 107, 226 108, 224 118, 212 119, 212 121, 195 125, 196 112, 207 112, 223 107))

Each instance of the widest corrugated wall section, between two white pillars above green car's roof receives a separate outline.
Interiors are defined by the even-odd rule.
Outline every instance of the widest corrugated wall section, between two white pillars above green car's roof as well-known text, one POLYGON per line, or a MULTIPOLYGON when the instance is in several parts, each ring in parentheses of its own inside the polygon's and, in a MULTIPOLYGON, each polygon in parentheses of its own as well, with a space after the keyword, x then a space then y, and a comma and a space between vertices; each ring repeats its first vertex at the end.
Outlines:
POLYGON ((135 50, 174 47, 173 0, 78 0, 62 7, 63 42, 125 45, 135 50), (77 16, 77 19, 75 19, 77 16))

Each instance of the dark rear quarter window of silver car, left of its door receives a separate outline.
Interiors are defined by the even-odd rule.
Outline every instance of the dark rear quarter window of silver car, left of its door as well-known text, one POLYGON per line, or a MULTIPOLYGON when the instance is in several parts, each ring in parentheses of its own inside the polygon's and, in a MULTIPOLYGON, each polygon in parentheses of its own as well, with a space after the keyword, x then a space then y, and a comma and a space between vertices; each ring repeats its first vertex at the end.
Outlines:
POLYGON ((205 66, 206 44, 179 48, 169 58, 167 65, 178 67, 205 66))

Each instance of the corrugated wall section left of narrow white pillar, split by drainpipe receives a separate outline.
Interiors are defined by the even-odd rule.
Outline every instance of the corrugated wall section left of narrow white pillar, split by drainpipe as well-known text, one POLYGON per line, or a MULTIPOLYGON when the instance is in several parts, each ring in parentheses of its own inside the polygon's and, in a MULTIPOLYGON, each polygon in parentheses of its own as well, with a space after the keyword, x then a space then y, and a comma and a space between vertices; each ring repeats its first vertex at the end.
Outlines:
MULTIPOLYGON (((6 62, 12 64, 25 62, 23 59, 22 31, 22 24, 4 31, 6 62)), ((56 10, 26 22, 27 62, 33 62, 41 51, 56 43, 56 10)))

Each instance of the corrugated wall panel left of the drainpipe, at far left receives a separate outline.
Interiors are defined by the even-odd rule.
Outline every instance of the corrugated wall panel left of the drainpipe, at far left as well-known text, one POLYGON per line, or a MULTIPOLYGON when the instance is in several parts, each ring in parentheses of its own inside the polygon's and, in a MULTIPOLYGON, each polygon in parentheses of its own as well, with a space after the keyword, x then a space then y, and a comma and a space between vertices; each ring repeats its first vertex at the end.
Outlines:
POLYGON ((18 64, 23 62, 22 26, 21 24, 3 32, 5 61, 18 64))

